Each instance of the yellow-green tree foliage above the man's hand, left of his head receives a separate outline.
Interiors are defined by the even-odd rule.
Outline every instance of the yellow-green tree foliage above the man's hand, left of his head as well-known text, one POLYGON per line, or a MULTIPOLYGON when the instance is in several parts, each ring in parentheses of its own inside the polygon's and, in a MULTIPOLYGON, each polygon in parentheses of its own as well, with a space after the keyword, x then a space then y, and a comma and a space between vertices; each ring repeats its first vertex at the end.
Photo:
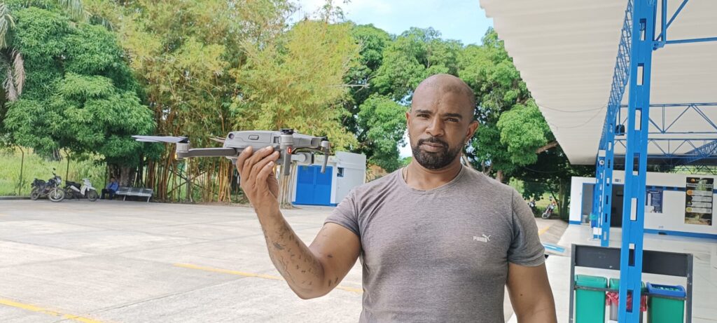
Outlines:
MULTIPOLYGON (((247 65, 235 72, 243 95, 233 106, 241 125, 294 128, 328 136, 338 149, 355 146, 355 137, 341 125, 348 95, 344 75, 359 55, 350 32, 350 24, 305 20, 276 42, 245 45, 247 65)), ((282 207, 290 207, 290 182, 281 179, 279 200, 282 207)))

